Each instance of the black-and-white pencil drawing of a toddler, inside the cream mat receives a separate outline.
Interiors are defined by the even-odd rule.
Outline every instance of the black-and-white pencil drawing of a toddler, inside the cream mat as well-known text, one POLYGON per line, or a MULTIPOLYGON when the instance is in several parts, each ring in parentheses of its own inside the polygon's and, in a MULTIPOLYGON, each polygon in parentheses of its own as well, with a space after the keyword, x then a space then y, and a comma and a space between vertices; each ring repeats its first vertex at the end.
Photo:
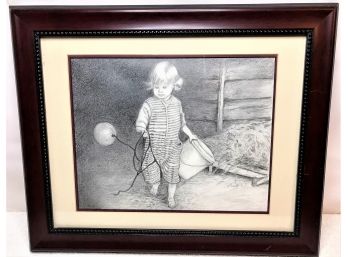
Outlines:
POLYGON ((78 209, 267 212, 276 56, 71 56, 78 209))

